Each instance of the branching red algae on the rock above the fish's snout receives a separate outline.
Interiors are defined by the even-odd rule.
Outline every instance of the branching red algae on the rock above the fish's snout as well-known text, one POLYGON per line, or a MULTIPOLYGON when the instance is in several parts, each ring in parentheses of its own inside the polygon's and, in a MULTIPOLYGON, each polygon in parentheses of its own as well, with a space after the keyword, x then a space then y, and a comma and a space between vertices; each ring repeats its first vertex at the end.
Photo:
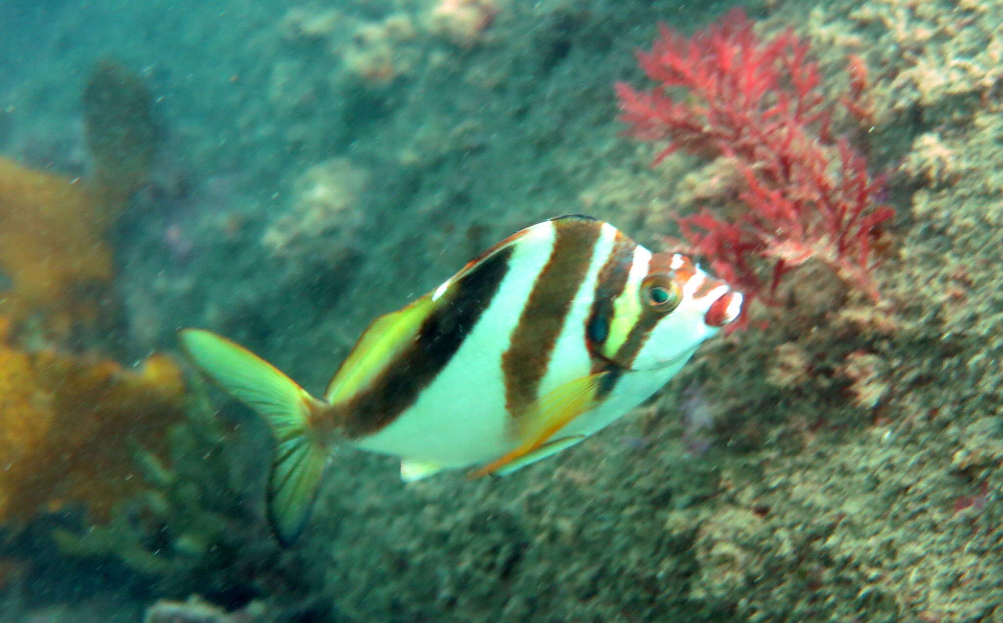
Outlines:
MULTIPOLYGON (((655 164, 676 149, 723 157, 744 182, 738 199, 746 210, 738 217, 703 210, 679 219, 692 253, 750 299, 770 302, 780 279, 808 259, 879 298, 872 249, 893 212, 881 204, 882 182, 864 157, 833 137, 835 104, 821 94, 807 44, 789 30, 761 41, 736 10, 691 38, 663 27, 638 62, 658 86, 617 84, 621 119, 637 138, 669 142, 655 164)), ((866 116, 860 59, 851 73, 839 105, 848 116, 866 116)))

